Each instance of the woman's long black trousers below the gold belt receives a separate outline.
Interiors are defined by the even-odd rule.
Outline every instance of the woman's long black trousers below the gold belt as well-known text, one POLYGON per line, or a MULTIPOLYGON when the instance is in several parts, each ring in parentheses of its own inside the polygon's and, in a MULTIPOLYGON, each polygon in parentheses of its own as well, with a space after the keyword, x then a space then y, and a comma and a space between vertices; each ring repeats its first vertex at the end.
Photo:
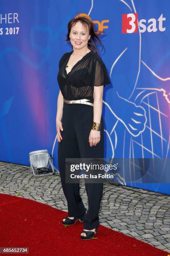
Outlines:
MULTIPOLYGON (((104 128, 101 118, 100 142, 90 147, 89 135, 93 122, 93 107, 85 104, 63 103, 62 141, 58 142, 58 166, 62 189, 67 200, 68 216, 76 217, 85 213, 80 197, 79 183, 65 182, 65 158, 103 158, 104 128)), ((88 210, 83 221, 84 229, 92 230, 99 225, 99 210, 103 183, 85 183, 88 210)))

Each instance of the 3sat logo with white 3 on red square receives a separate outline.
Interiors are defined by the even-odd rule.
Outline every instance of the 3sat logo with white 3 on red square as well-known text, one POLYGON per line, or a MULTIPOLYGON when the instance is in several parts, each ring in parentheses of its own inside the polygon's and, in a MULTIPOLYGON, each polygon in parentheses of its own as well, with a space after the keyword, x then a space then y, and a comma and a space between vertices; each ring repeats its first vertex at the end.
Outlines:
POLYGON ((163 27, 165 20, 166 18, 163 18, 163 13, 158 20, 155 18, 138 20, 138 13, 122 14, 122 33, 138 33, 138 29, 141 33, 145 31, 156 32, 158 30, 163 32, 166 29, 163 27))

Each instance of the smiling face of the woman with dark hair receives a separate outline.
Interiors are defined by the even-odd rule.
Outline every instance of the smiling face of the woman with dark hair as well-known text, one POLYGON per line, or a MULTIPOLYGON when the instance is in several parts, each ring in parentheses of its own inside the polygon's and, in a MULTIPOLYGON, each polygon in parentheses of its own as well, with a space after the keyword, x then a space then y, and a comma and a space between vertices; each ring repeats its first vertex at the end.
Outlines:
POLYGON ((70 31, 70 43, 72 44, 73 49, 82 49, 83 47, 87 47, 90 35, 88 29, 86 29, 87 28, 83 27, 80 21, 77 21, 75 26, 72 26, 70 31), (80 44, 78 44, 78 42, 80 42, 80 44))

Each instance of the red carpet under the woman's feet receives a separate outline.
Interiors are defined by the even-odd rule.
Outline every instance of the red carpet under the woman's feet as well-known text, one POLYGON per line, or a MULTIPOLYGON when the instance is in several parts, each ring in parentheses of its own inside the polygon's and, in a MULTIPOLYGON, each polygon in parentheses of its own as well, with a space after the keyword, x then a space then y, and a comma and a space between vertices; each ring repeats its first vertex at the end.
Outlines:
MULTIPOLYGON (((100 225, 93 239, 83 241, 79 221, 65 228, 67 212, 33 200, 0 194, 0 247, 29 247, 36 256, 167 256, 147 243, 100 225)), ((16 254, 10 254, 16 255, 16 254)))

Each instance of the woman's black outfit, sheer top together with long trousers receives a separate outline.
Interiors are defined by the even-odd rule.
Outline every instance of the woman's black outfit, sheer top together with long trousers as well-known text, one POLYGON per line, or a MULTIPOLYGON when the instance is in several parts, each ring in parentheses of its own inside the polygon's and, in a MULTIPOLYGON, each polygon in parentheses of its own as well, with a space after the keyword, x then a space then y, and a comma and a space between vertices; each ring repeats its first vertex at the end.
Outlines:
MULTIPOLYGON (((73 51, 62 55, 59 61, 57 81, 65 100, 89 99, 93 103, 94 86, 105 87, 110 79, 104 62, 95 52, 90 51, 82 57, 67 74, 65 66, 73 51)), ((79 183, 65 182, 65 158, 104 158, 104 127, 101 117, 100 142, 90 146, 89 135, 93 123, 93 106, 67 104, 63 102, 62 140, 58 143, 58 167, 62 189, 68 206, 68 216, 81 216, 85 206, 80 197, 79 183)), ((83 227, 92 230, 99 225, 98 213, 102 199, 103 183, 85 183, 88 197, 88 210, 83 227)))

